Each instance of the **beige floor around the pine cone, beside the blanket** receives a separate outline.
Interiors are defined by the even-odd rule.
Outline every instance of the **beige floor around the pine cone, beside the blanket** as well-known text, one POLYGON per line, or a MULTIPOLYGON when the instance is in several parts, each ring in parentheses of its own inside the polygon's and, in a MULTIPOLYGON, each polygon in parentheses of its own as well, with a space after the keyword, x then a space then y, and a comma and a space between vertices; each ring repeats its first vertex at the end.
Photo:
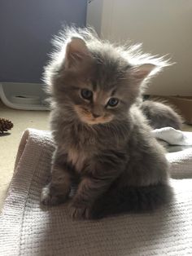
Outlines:
MULTIPOLYGON (((7 189, 13 175, 15 157, 20 138, 27 128, 49 129, 48 111, 24 111, 7 108, 0 101, 0 117, 11 120, 13 129, 8 135, 0 136, 0 210, 7 196, 7 189)), ((184 126, 183 130, 192 131, 192 126, 184 126)))

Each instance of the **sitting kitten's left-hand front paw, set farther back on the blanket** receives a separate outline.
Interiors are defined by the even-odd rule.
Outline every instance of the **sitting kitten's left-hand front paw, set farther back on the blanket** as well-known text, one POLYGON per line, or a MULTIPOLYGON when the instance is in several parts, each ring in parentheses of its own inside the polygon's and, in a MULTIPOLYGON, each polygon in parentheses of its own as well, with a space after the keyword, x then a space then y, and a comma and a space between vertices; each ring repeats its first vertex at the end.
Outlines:
POLYGON ((41 204, 42 205, 59 205, 66 200, 66 196, 55 195, 49 187, 42 188, 41 204))

